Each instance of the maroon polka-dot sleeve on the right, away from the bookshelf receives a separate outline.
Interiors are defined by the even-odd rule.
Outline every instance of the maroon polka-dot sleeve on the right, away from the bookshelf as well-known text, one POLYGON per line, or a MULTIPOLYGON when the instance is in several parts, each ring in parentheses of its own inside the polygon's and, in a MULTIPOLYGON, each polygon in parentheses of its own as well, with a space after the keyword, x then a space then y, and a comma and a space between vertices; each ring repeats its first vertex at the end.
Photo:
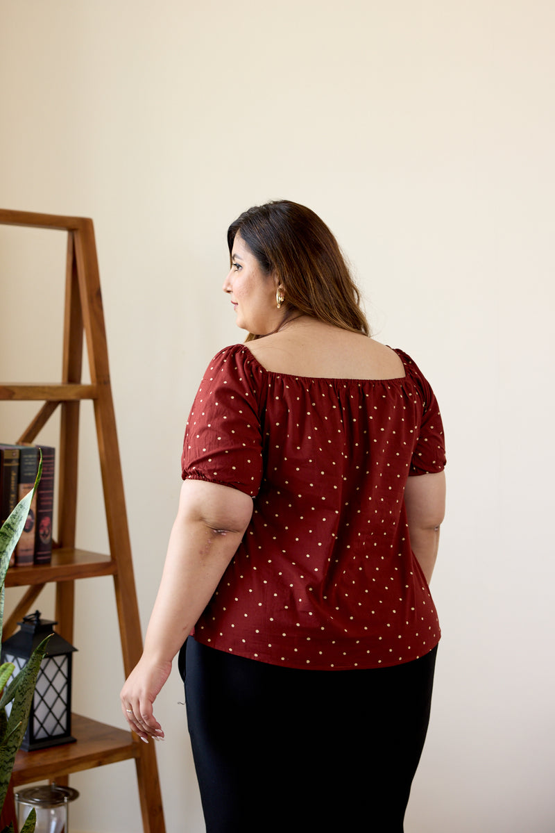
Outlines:
POLYGON ((418 437, 410 462, 409 474, 421 475, 443 471, 445 468, 445 438, 438 400, 419 367, 406 353, 404 353, 404 358, 408 360, 405 367, 409 367, 410 376, 414 381, 420 412, 418 437))

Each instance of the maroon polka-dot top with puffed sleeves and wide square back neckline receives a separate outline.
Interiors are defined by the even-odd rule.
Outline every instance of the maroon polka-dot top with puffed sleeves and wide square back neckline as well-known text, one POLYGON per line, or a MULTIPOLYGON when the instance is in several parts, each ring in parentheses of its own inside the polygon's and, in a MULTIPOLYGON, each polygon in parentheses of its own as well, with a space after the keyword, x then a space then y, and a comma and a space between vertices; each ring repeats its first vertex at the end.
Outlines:
POLYGON ((233 486, 254 511, 195 628, 197 641, 294 668, 393 666, 439 641, 409 543, 409 474, 442 471, 438 403, 405 376, 265 370, 243 344, 208 367, 186 426, 183 479, 233 486))

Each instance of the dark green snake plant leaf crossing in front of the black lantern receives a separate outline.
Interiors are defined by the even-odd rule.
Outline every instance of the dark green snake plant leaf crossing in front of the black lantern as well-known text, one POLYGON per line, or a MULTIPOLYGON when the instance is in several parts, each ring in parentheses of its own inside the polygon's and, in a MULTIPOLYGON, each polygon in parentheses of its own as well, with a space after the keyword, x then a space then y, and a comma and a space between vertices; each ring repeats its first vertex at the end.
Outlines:
POLYGON ((12 711, 10 711, 7 721, 6 736, 0 741, 0 807, 3 806, 6 798, 13 762, 27 729, 37 675, 41 667, 42 657, 47 651, 49 640, 50 636, 42 640, 41 644, 32 652, 27 665, 17 675, 21 677, 21 680, 13 698, 12 711))

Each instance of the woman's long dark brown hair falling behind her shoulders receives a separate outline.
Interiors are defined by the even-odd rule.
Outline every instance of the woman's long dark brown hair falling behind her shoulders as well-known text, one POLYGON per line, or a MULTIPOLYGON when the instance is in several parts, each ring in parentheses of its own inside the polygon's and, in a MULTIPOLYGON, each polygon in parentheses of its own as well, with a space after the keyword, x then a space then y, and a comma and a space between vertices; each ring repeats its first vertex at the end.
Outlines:
MULTIPOLYGON (((249 208, 227 230, 230 254, 238 232, 262 270, 279 276, 285 295, 284 321, 298 311, 369 336, 360 293, 338 242, 310 208, 289 200, 249 208)), ((253 338, 257 336, 249 333, 246 340, 253 338)))

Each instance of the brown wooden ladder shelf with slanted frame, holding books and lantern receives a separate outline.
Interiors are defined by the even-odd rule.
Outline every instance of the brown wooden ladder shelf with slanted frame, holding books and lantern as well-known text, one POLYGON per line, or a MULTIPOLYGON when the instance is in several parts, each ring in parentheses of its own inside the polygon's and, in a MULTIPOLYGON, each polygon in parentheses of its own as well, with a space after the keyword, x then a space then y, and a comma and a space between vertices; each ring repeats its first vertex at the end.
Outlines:
MULTIPOLYGON (((37 416, 17 440, 18 443, 33 442, 57 407, 61 409, 60 444, 57 450, 58 540, 52 551, 52 564, 16 566, 10 567, 7 571, 7 587, 27 586, 28 589, 4 624, 4 638, 12 634, 17 621, 29 611, 42 588, 53 581, 56 582, 57 631, 67 641, 72 642, 75 581, 91 576, 113 576, 121 652, 127 675, 141 656, 141 626, 111 397, 94 227, 92 220, 85 217, 58 217, 6 209, 0 209, 0 225, 67 231, 62 382, 37 385, 0 383, 0 400, 43 403, 37 416), (81 382, 83 332, 90 384, 81 382), (107 515, 109 556, 82 551, 75 546, 77 446, 82 400, 91 400, 94 407, 107 515)), ((76 743, 54 746, 46 750, 18 752, 12 786, 44 779, 56 779, 61 783, 72 772, 134 759, 143 831, 165 833, 155 745, 141 743, 129 731, 105 726, 78 715, 73 716, 72 733, 77 738, 76 743)), ((4 821, 2 816, 4 824, 8 821, 12 819, 7 818, 4 821)))

